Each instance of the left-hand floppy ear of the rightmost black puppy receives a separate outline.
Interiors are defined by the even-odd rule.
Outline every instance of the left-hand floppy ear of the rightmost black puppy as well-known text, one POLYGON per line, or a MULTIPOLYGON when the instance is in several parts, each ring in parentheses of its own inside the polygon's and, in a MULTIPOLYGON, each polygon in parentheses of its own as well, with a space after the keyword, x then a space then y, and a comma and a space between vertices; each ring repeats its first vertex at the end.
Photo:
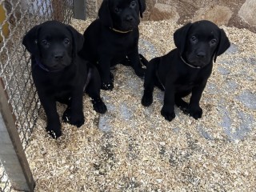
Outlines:
POLYGON ((174 32, 174 44, 178 48, 179 53, 182 55, 185 46, 186 46, 186 36, 187 32, 190 30, 190 26, 192 26, 192 23, 187 23, 185 26, 182 26, 178 30, 174 32))

